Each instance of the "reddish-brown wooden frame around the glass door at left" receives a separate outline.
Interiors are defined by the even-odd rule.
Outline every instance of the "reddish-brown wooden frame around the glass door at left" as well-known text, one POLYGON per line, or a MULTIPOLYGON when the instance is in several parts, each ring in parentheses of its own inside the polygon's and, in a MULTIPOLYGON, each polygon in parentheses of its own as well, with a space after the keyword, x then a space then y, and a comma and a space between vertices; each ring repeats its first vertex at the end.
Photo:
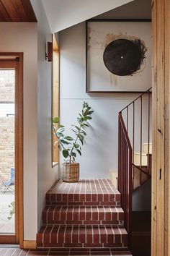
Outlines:
POLYGON ((8 235, 1 236, 4 244, 12 244, 17 242, 19 247, 23 248, 24 240, 24 213, 23 213, 23 53, 3 53, 0 52, 0 59, 14 60, 17 58, 16 67, 17 73, 15 87, 15 200, 17 201, 17 208, 15 208, 15 214, 17 221, 15 223, 15 230, 17 237, 8 235), (11 58, 10 58, 11 56, 11 58), (15 241, 15 239, 17 241, 15 241))

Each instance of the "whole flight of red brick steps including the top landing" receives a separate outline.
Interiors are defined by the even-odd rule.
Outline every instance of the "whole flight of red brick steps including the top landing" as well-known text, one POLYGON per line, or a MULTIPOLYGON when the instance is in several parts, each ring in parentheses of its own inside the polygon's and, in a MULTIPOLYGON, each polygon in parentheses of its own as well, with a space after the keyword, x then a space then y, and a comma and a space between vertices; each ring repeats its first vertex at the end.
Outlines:
POLYGON ((78 247, 86 249, 84 255, 131 255, 120 192, 107 179, 77 183, 58 179, 46 194, 37 247, 78 247))

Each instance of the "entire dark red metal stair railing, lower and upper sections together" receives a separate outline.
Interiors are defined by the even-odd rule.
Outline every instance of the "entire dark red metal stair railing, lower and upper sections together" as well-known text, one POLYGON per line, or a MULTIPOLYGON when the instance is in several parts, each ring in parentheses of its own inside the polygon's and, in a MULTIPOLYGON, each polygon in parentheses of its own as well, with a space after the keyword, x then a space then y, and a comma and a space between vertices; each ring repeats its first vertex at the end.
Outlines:
POLYGON ((133 192, 133 185, 134 185, 134 170, 138 169, 140 171, 140 185, 142 174, 148 176, 148 179, 151 177, 151 153, 150 153, 150 139, 151 139, 151 90, 152 88, 148 89, 145 93, 138 96, 135 101, 131 102, 122 109, 119 113, 119 138, 118 138, 118 189, 121 193, 121 206, 125 213, 125 228, 128 231, 128 246, 130 247, 131 242, 131 219, 132 219, 132 192, 133 192), (143 104, 144 95, 147 95, 148 99, 148 108, 146 115, 146 119, 148 125, 146 125, 143 129, 143 106, 145 107, 146 104, 143 104), (139 166, 136 166, 134 163, 134 156, 135 156, 135 128, 137 126, 137 122, 135 120, 135 111, 138 111, 139 117, 139 125, 140 128, 138 129, 138 142, 139 142, 139 156, 140 156, 140 163, 139 166), (131 112, 131 113, 130 113, 131 112), (125 121, 122 117, 125 118, 125 121), (130 115, 131 114, 131 115, 130 115), (131 118, 130 118, 131 117, 131 118), (148 150, 147 150, 147 165, 143 166, 142 161, 142 152, 143 152, 143 130, 145 135, 147 136, 148 142, 148 150), (131 132, 131 136, 130 136, 131 132), (131 140, 131 143, 130 143, 131 140), (135 168, 134 168, 135 167, 135 168), (146 171, 147 169, 147 171, 146 171))

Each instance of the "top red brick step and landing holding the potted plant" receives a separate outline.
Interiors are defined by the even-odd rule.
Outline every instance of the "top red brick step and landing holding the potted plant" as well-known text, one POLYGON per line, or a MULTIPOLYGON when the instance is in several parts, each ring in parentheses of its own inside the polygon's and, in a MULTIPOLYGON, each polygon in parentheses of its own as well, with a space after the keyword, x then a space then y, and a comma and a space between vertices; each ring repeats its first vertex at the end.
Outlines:
POLYGON ((120 205, 120 192, 109 179, 81 179, 66 183, 61 179, 48 190, 47 205, 120 205))

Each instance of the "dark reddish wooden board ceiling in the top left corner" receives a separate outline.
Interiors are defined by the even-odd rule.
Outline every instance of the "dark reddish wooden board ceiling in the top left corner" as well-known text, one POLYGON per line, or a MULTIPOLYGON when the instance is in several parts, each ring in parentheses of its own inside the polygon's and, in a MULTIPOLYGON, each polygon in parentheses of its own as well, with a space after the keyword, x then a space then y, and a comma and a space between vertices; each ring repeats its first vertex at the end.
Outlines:
POLYGON ((0 0, 0 22, 37 22, 30 0, 0 0))

